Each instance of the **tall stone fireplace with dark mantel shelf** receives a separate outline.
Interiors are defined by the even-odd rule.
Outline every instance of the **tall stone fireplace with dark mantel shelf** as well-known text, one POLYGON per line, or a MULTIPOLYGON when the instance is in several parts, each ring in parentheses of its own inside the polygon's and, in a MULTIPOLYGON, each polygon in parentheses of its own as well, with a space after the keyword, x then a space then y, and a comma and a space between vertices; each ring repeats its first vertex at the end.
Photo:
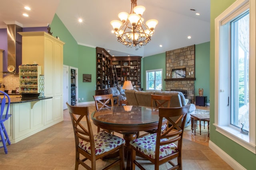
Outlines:
POLYGON ((166 91, 181 91, 194 103, 195 45, 166 51, 166 91), (173 69, 186 70, 186 76, 174 78, 173 69), (186 93, 185 93, 186 92, 186 93))

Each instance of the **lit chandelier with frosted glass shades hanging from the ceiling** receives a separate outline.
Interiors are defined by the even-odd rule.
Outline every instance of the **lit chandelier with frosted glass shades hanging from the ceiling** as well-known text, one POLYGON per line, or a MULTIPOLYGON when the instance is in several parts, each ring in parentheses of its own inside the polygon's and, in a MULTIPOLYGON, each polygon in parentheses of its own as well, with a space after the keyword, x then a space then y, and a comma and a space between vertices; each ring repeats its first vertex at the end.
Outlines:
POLYGON ((142 18, 143 12, 146 10, 144 6, 137 6, 137 0, 131 0, 130 14, 127 12, 120 12, 118 14, 119 20, 113 20, 110 24, 114 28, 114 33, 118 38, 118 42, 126 45, 126 47, 142 47, 146 45, 154 33, 157 20, 148 20, 144 24, 142 18))

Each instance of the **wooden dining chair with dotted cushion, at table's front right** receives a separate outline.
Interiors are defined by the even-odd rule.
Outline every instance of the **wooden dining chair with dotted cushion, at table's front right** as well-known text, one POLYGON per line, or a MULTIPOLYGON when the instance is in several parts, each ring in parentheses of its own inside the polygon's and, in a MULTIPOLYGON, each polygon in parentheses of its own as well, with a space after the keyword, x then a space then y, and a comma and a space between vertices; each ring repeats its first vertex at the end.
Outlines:
POLYGON ((145 170, 136 161, 136 155, 138 155, 152 162, 155 170, 159 170, 159 166, 166 162, 172 165, 169 170, 182 170, 182 135, 189 107, 190 104, 183 107, 159 108, 157 133, 130 141, 130 145, 132 145, 132 169, 138 166, 138 168, 145 170), (164 132, 161 131, 163 119, 172 123, 172 126, 164 132), (172 161, 174 158, 177 158, 177 164, 172 161))

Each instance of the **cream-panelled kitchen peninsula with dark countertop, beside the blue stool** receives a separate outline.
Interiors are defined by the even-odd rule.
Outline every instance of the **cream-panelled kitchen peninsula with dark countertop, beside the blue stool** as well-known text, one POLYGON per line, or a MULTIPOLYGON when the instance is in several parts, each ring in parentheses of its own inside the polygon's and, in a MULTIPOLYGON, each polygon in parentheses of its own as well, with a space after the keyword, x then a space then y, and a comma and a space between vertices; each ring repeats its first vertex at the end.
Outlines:
MULTIPOLYGON (((6 121, 11 143, 16 143, 60 121, 63 111, 54 114, 54 97, 38 98, 39 94, 9 94, 12 116, 6 121)), ((62 100, 60 100, 62 104, 62 100)))

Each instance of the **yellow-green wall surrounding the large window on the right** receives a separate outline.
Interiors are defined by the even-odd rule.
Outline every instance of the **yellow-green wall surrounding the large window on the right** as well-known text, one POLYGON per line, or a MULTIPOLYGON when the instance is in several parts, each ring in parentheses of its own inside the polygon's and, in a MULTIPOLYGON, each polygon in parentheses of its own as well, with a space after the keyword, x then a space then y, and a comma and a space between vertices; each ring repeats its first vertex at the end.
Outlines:
POLYGON ((214 125, 214 60, 215 60, 215 23, 214 20, 235 0, 211 0, 211 19, 210 19, 210 141, 231 156, 236 162, 247 170, 254 170, 256 167, 256 155, 224 135, 218 133, 214 125))

